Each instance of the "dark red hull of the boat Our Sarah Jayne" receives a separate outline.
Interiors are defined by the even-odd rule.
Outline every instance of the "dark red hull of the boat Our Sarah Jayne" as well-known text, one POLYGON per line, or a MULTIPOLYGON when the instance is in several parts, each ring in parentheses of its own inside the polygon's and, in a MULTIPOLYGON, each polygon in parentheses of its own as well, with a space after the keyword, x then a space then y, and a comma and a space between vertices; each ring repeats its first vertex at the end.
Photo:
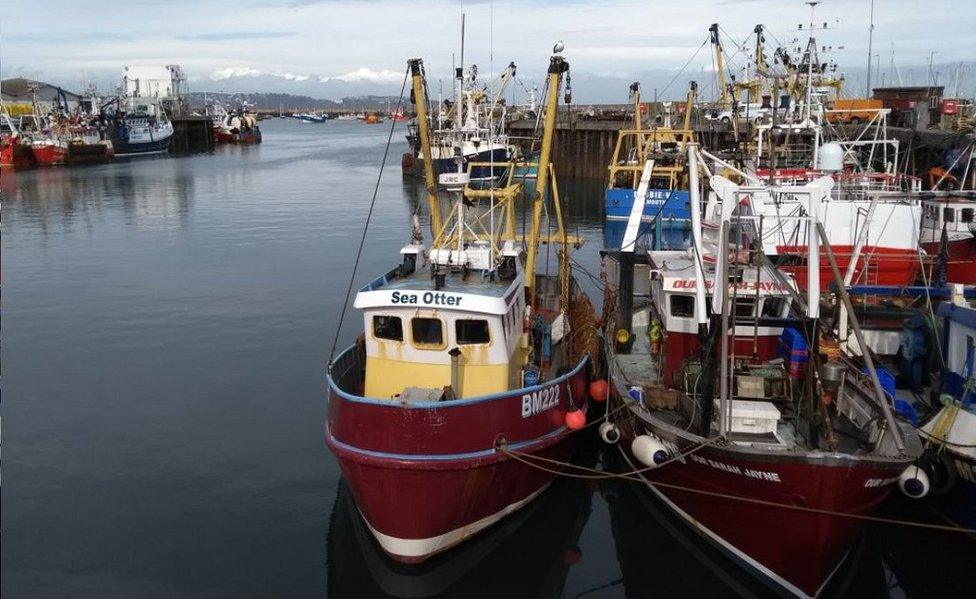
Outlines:
MULTIPOLYGON (((622 416, 620 449, 635 434, 653 434, 686 453, 700 440, 673 434, 632 414, 622 416), (637 431, 634 433, 633 431, 637 431)), ((677 485, 777 504, 869 514, 888 496, 911 459, 804 452, 759 452, 706 446, 642 476, 677 485)), ((636 467, 636 466, 635 466, 636 467)), ((664 486, 651 486, 668 507, 740 564, 781 590, 815 596, 839 568, 860 532, 853 518, 760 505, 664 486)))

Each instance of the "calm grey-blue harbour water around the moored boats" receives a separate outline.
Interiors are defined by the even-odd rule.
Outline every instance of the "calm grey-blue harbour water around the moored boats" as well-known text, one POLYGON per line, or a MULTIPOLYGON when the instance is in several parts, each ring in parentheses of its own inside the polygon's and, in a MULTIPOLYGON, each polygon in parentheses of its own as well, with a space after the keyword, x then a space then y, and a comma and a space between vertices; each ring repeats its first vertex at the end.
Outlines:
MULTIPOLYGON (((4 597, 768 595, 618 482, 560 481, 423 568, 386 560, 322 425, 389 129, 262 129, 212 155, 4 171, 4 597)), ((404 132, 357 282, 398 261, 422 201, 404 132)), ((602 184, 560 189, 596 274, 602 184)), ((579 459, 610 457, 587 443, 579 459)), ((910 508, 888 512, 928 517, 910 508)), ((967 555, 960 536, 873 525, 828 594, 952 596, 967 555)))

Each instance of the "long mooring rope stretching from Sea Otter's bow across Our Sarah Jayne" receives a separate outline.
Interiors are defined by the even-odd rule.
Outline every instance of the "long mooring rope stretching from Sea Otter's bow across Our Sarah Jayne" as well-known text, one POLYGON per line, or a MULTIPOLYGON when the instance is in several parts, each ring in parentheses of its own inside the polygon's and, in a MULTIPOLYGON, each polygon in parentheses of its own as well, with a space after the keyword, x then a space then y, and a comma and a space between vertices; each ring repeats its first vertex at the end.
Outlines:
MULTIPOLYGON (((694 451, 698 451, 699 449, 701 449, 702 447, 705 447, 708 444, 710 444, 710 441, 706 441, 704 443, 701 443, 700 445, 698 445, 695 448, 693 448, 693 450, 690 450, 690 451, 688 451, 688 452, 686 452, 684 454, 681 454, 681 456, 684 457, 685 455, 689 455, 691 453, 694 453, 694 451)), ((618 448, 618 449, 621 452, 623 452, 623 449, 621 449, 621 448, 618 448)), ((509 456, 509 457, 511 457, 511 458, 513 458, 513 459, 515 459, 515 460, 517 460, 517 461, 519 461, 519 462, 527 465, 527 466, 530 466, 532 468, 536 468, 538 470, 542 470, 543 472, 548 472, 550 474, 554 474, 556 476, 566 476, 566 477, 569 477, 569 478, 578 478, 578 479, 583 479, 583 480, 621 479, 621 480, 627 480, 627 481, 631 481, 631 482, 643 483, 643 484, 646 484, 646 485, 649 485, 649 486, 652 486, 652 487, 655 487, 655 488, 661 487, 661 488, 665 488, 665 489, 672 489, 672 490, 675 490, 675 491, 684 491, 684 492, 687 492, 687 493, 694 493, 694 494, 697 494, 697 495, 706 495, 706 496, 709 496, 709 497, 717 497, 717 498, 720 498, 720 499, 731 499, 733 501, 741 501, 741 502, 744 502, 744 503, 751 503, 751 504, 754 504, 754 505, 764 505, 764 506, 768 506, 768 507, 783 508, 783 509, 795 510, 795 511, 800 511, 800 512, 820 514, 820 515, 823 515, 823 516, 836 516, 838 518, 848 518, 848 519, 852 519, 852 520, 864 520, 864 521, 868 521, 868 522, 880 522, 880 523, 883 523, 883 524, 896 524, 896 525, 900 525, 900 526, 909 526, 909 527, 913 527, 913 528, 923 528, 923 529, 928 529, 928 530, 939 530, 939 531, 942 531, 942 532, 955 532, 955 533, 963 533, 963 534, 970 534, 970 535, 976 534, 976 529, 974 529, 974 528, 964 528, 962 526, 949 526, 949 525, 944 525, 944 524, 930 524, 928 522, 918 522, 918 521, 914 521, 914 520, 901 520, 901 519, 898 519, 898 518, 885 518, 885 517, 882 517, 882 516, 870 516, 870 515, 867 515, 867 514, 851 514, 851 513, 848 513, 848 512, 837 512, 837 511, 834 511, 834 510, 826 510, 826 509, 822 509, 822 508, 808 507, 808 506, 803 506, 803 505, 792 505, 792 504, 789 504, 789 503, 779 503, 779 502, 776 502, 776 501, 768 501, 768 500, 765 500, 765 499, 756 499, 754 497, 743 497, 741 495, 733 495, 731 493, 722 493, 722 492, 719 492, 719 491, 707 491, 705 489, 697 489, 695 487, 687 487, 687 486, 684 486, 684 485, 676 485, 676 484, 673 484, 673 483, 664 483, 664 482, 660 482, 660 481, 658 481, 658 482, 651 482, 651 481, 647 480, 644 477, 635 477, 635 475, 639 475, 642 472, 646 472, 646 471, 652 470, 652 469, 657 469, 657 468, 660 468, 661 466, 655 466, 653 468, 648 467, 648 468, 641 469, 641 470, 632 470, 631 472, 614 473, 614 472, 607 472, 605 470, 598 470, 596 468, 590 468, 588 466, 580 466, 578 464, 571 464, 569 462, 562 462, 562 461, 559 461, 559 460, 553 460, 553 459, 550 459, 550 458, 546 458, 546 457, 539 456, 539 455, 535 455, 535 454, 531 454, 531 453, 524 453, 524 452, 520 452, 520 451, 511 450, 511 449, 508 449, 507 447, 505 447, 504 445, 500 445, 498 447, 498 450, 501 453, 503 453, 503 454, 505 454, 505 455, 507 455, 507 456, 509 456), (539 460, 540 462, 548 462, 548 463, 552 463, 552 464, 557 464, 557 465, 561 466, 562 468, 573 467, 576 470, 580 470, 580 471, 583 471, 583 472, 587 472, 587 474, 576 474, 576 473, 573 473, 573 472, 565 472, 562 469, 556 470, 556 469, 553 469, 553 468, 549 468, 549 467, 543 466, 542 464, 534 463, 531 460, 539 460)), ((675 458, 675 459, 677 459, 677 458, 675 458)), ((672 460, 669 460, 667 462, 663 462, 661 465, 669 464, 671 461, 672 460)))

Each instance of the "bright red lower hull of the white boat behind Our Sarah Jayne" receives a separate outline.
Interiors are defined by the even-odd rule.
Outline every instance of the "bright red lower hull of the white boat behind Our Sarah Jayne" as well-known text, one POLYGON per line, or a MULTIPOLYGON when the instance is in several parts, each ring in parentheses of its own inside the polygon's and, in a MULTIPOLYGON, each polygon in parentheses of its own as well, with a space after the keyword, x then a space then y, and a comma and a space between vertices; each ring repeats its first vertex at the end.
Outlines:
MULTIPOLYGON (((849 245, 831 246, 837 267, 841 275, 847 271, 854 254, 854 247, 849 245)), ((807 267, 806 246, 780 246, 776 248, 779 257, 788 258, 792 264, 783 264, 780 270, 792 274, 796 278, 797 286, 806 289, 807 267)), ((905 287, 911 285, 921 273, 918 253, 914 250, 882 248, 865 246, 861 250, 858 264, 854 269, 854 284, 863 285, 891 285, 905 287), (865 272, 865 266, 867 271, 865 272)), ((820 288, 827 289, 834 282, 834 275, 830 269, 830 262, 825 252, 820 256, 820 288)))

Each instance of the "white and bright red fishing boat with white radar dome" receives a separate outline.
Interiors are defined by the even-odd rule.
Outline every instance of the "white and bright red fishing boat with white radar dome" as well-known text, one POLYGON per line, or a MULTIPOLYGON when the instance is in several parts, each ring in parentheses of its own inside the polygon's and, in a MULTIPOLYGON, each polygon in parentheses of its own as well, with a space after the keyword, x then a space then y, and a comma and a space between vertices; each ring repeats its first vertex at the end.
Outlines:
MULTIPOLYGON (((810 4, 812 12, 817 3, 810 4)), ((866 111, 873 116, 854 137, 828 123, 829 96, 839 94, 843 76, 838 76, 836 65, 821 55, 825 47, 818 44, 814 33, 823 27, 812 14, 809 26, 803 28, 810 36, 802 53, 793 56, 780 48, 774 64, 770 64, 764 56, 763 28, 757 27, 755 76, 737 86, 723 79, 722 89, 748 91, 750 102, 761 99, 766 108, 749 120, 748 158, 737 165, 716 164, 750 185, 797 186, 831 177, 834 185, 820 204, 817 219, 823 223, 830 249, 845 272, 845 283, 911 285, 923 267, 919 241, 921 181, 897 172, 899 144, 887 136, 890 110, 866 111), (774 98, 779 99, 775 110, 774 98)), ((714 44, 717 25, 711 31, 714 44)), ((730 96, 723 102, 733 99, 730 96)), ((724 200, 721 191, 710 194, 710 205, 724 200)), ((796 275, 803 287, 808 280, 807 248, 798 241, 805 232, 802 219, 796 217, 804 205, 788 197, 786 200, 781 206, 762 194, 744 198, 753 215, 762 219, 765 254, 779 268, 796 275)), ((826 287, 831 275, 823 255, 822 260, 817 270, 821 287, 826 287)))

